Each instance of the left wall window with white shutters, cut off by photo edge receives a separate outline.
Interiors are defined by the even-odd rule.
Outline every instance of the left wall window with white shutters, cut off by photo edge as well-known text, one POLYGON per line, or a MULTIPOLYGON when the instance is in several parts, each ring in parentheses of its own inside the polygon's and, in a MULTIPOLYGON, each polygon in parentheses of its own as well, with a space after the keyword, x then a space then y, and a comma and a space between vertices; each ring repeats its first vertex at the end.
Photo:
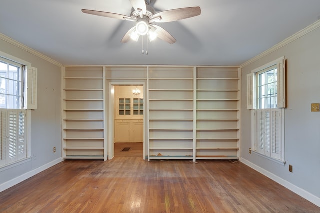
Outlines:
POLYGON ((27 114, 36 109, 37 69, 0 52, 0 167, 27 156, 27 114))

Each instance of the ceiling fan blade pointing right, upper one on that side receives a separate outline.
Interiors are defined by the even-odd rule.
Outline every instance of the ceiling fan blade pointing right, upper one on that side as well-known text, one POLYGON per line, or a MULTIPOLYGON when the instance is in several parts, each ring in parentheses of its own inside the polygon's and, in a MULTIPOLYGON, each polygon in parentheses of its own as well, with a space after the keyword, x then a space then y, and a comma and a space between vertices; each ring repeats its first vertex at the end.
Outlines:
POLYGON ((152 17, 150 17, 150 21, 161 23, 171 22, 185 18, 191 18, 200 14, 201 8, 199 6, 171 9, 154 14, 152 17))

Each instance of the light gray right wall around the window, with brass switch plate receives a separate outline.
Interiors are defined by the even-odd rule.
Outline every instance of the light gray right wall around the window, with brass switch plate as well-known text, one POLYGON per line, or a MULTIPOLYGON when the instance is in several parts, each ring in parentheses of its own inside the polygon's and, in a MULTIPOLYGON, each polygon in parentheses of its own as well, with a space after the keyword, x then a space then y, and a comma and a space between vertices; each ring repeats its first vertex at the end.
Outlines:
POLYGON ((242 68, 241 149, 242 158, 320 197, 320 112, 311 103, 320 102, 320 28, 286 44, 242 68), (251 113, 246 109, 246 74, 281 56, 286 58, 287 108, 285 109, 285 166, 256 154, 251 147, 251 113), (293 166, 293 173, 288 166, 293 166))

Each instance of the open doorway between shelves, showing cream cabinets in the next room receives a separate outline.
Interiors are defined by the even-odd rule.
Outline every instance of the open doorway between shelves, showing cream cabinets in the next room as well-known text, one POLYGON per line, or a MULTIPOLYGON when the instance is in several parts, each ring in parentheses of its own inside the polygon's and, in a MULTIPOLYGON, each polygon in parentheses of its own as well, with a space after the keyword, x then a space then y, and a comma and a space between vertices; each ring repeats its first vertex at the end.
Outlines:
POLYGON ((108 140, 109 159, 113 156, 145 159, 144 83, 110 83, 109 91, 113 93, 109 96, 109 109, 113 109, 109 110, 108 119, 109 135, 113 135, 108 140))

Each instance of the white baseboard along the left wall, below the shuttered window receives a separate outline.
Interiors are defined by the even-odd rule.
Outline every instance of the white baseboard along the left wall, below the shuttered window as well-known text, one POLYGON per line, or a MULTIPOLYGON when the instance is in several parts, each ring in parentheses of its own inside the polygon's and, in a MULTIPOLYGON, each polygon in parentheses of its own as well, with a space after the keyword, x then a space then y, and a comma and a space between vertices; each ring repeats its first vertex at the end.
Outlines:
POLYGON ((20 182, 22 182, 24 180, 26 180, 26 179, 28 179, 28 178, 30 178, 30 177, 38 174, 38 173, 40 173, 40 172, 42 172, 42 171, 54 166, 55 164, 60 163, 62 161, 63 161, 62 158, 55 159, 55 160, 53 160, 53 161, 51 161, 51 162, 49 162, 47 164, 44 164, 43 166, 40 166, 40 167, 38 167, 38 168, 36 168, 34 170, 31 170, 31 171, 29 171, 27 173, 24 173, 24 174, 22 174, 22 175, 20 175, 20 176, 18 176, 16 178, 13 178, 12 180, 9 180, 7 182, 4 182, 3 184, 0 184, 0 192, 2 192, 4 190, 6 190, 6 189, 18 184, 18 183, 20 183, 20 182))

